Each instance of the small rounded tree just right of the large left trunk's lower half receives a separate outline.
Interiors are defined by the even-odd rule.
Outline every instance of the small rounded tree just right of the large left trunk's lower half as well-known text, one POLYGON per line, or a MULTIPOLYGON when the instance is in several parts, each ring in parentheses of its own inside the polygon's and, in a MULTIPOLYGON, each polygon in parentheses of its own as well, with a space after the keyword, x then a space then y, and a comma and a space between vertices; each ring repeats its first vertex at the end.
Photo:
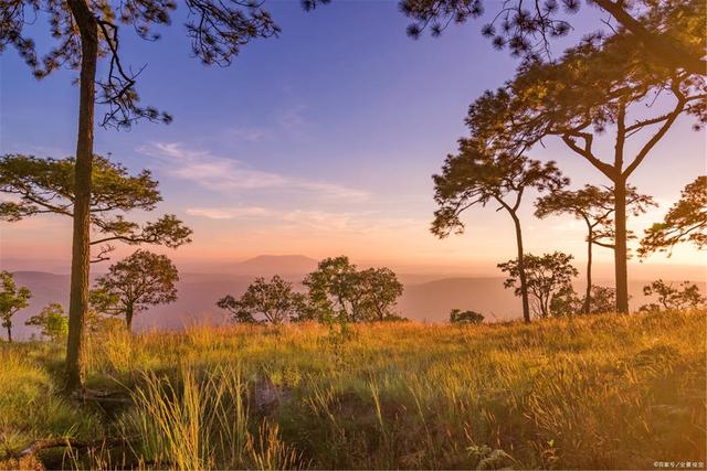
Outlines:
POLYGON ((177 300, 177 281, 179 274, 168 257, 140 249, 96 279, 93 299, 98 312, 124 315, 131 331, 135 314, 177 300))

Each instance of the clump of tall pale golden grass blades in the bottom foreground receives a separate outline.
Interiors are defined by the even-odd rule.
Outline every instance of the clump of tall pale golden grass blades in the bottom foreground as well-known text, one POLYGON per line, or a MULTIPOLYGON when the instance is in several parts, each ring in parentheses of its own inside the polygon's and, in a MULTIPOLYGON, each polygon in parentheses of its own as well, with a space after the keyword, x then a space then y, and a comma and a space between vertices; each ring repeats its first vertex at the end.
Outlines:
POLYGON ((146 372, 123 419, 125 435, 141 437, 135 450, 159 469, 293 469, 299 454, 279 440, 277 425, 249 431, 247 390, 239 367, 182 366, 178 382, 146 372))

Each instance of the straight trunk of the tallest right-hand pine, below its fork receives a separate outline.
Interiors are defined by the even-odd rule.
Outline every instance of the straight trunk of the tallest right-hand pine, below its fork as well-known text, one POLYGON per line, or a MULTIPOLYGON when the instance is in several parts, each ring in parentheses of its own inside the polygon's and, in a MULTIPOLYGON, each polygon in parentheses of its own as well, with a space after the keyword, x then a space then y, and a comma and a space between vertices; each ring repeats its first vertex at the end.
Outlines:
POLYGON ((629 253, 626 248, 626 182, 614 182, 614 271, 616 312, 629 312, 629 253))

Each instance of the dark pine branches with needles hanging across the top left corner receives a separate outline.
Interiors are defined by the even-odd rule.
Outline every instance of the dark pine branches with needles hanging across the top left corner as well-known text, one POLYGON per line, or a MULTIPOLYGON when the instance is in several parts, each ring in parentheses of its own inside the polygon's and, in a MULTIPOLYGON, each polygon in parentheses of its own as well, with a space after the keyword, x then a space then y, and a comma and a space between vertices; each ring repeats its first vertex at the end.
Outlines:
POLYGON ((139 119, 169 122, 169 114, 140 104, 136 85, 141 68, 134 72, 125 64, 119 33, 127 26, 138 38, 156 41, 160 38, 156 26, 171 24, 180 3, 189 13, 184 28, 191 53, 205 65, 229 65, 250 41, 279 32, 262 2, 246 0, 8 0, 0 3, 0 52, 13 46, 33 75, 44 78, 62 67, 80 69, 83 42, 95 35, 97 55, 108 62, 105 76, 97 81, 98 103, 106 106, 102 126, 128 128, 139 119), (29 26, 36 18, 48 18, 55 41, 44 55, 30 38, 29 26), (82 28, 88 34, 82 34, 82 28))

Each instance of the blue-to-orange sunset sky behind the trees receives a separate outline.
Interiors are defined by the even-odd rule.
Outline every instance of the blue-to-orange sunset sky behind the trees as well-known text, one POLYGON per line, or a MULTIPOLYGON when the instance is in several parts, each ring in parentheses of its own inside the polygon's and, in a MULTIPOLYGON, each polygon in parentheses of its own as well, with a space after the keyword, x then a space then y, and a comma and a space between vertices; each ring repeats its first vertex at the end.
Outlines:
MULTIPOLYGON (((510 78, 517 65, 479 34, 483 21, 414 41, 395 1, 335 1, 308 13, 296 1, 266 7, 282 34, 246 45, 228 68, 190 57, 183 11, 159 30, 158 42, 122 31, 124 63, 146 66, 138 82, 143 103, 175 120, 139 122, 129 131, 96 128, 95 151, 131 172, 150 169, 159 180, 163 202, 136 220, 170 213, 193 228, 192 244, 157 251, 191 270, 261 254, 345 254, 405 270, 499 275, 496 264, 515 254, 513 224, 503 212, 469 211, 461 236, 440 240, 429 231, 435 210, 431 175, 467 135, 468 105, 510 78)), ((601 25, 588 8, 572 21, 576 35, 601 25)), ((40 47, 49 44, 45 26, 38 21, 31 30, 40 47)), ((35 81, 8 49, 0 74, 0 152, 72 156, 76 73, 35 81)), ((631 180, 659 203, 630 221, 637 234, 705 173, 705 132, 690 125, 689 118, 678 120, 631 180)), ((610 143, 600 149, 608 152, 610 143)), ((608 183, 561 143, 548 141, 530 157, 558 161, 574 186, 608 183)), ((582 224, 535 220, 531 203, 527 199, 521 212, 528 251, 560 249, 581 264, 582 224)), ((67 264, 71 221, 0 223, 0 238, 4 267, 57 270, 67 264)), ((611 275, 611 259, 609 250, 597 249, 600 276, 611 275)), ((706 264, 704 254, 684 246, 671 258, 633 263, 632 271, 695 279, 705 277, 706 264)))

